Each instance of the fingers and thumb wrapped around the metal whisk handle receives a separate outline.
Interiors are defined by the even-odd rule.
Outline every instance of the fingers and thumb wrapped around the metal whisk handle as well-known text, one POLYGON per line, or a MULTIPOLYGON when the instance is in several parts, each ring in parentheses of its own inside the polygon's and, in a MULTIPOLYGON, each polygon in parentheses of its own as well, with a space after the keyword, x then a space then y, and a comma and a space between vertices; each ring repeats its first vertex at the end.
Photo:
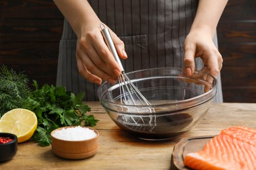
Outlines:
MULTIPOLYGON (((127 54, 124 50, 123 41, 121 41, 112 31, 111 33, 117 54, 119 54, 121 58, 126 59, 127 54)), ((102 34, 89 33, 86 41, 81 41, 79 45, 81 49, 77 50, 79 51, 77 56, 79 56, 78 58, 81 58, 80 61, 84 63, 84 67, 87 70, 84 73, 81 73, 81 75, 88 80, 95 80, 95 83, 98 83, 95 76, 112 84, 116 83, 117 76, 121 75, 121 69, 104 42, 102 34)))

